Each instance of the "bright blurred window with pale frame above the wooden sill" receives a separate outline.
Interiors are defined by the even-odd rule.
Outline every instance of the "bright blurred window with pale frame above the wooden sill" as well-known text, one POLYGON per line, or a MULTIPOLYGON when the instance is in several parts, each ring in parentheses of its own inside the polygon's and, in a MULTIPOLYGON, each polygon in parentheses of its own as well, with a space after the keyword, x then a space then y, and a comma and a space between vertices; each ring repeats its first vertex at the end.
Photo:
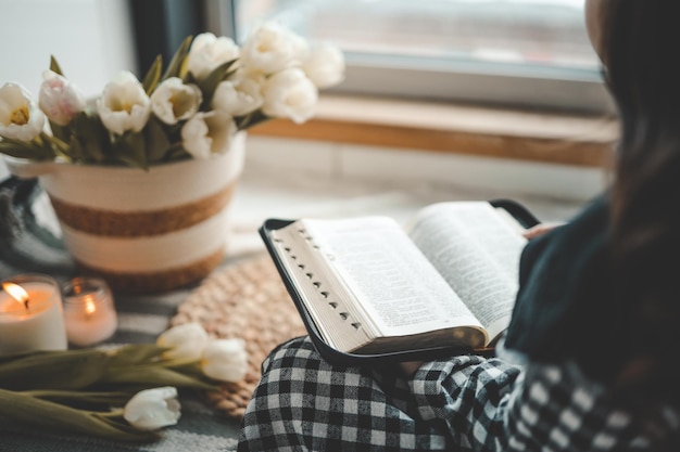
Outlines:
POLYGON ((209 27, 241 40, 277 18, 345 52, 335 91, 612 112, 582 0, 219 0, 209 27))

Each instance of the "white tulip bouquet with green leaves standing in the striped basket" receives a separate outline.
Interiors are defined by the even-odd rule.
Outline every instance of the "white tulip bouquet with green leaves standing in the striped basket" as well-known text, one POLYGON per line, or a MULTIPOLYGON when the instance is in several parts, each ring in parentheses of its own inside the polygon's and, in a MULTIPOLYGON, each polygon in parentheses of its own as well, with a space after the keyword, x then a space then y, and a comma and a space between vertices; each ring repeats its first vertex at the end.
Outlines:
POLYGON ((310 43, 276 22, 242 47, 211 33, 189 36, 163 66, 159 55, 141 81, 121 72, 86 102, 52 56, 37 103, 21 85, 0 87, 0 153, 140 168, 207 158, 269 118, 306 121, 318 90, 344 77, 338 48, 310 43))

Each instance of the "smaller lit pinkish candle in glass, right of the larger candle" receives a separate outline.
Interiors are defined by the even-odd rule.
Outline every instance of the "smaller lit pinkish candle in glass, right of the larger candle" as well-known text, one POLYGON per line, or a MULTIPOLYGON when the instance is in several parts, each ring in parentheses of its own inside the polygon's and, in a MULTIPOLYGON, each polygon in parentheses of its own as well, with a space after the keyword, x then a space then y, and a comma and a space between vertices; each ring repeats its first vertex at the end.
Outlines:
POLYGON ((68 343, 87 347, 113 335, 117 315, 109 286, 98 277, 75 277, 63 287, 68 343))

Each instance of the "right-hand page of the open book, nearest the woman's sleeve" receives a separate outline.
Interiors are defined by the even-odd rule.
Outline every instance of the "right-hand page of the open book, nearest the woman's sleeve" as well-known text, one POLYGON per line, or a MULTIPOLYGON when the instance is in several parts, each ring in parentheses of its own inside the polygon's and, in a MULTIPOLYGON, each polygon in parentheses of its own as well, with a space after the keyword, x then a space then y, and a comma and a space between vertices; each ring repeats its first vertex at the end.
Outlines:
POLYGON ((527 243, 517 227, 487 202, 452 202, 425 207, 407 229, 490 336, 502 333, 515 305, 527 243))

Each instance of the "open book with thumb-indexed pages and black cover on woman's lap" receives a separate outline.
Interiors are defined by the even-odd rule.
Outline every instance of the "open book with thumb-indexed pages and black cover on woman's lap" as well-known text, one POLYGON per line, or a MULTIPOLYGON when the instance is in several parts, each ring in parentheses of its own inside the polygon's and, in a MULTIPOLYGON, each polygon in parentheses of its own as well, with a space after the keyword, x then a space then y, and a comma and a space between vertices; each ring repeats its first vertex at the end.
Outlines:
POLYGON ((327 359, 425 359, 492 348, 518 289, 521 205, 446 202, 389 217, 269 219, 269 254, 327 359))

